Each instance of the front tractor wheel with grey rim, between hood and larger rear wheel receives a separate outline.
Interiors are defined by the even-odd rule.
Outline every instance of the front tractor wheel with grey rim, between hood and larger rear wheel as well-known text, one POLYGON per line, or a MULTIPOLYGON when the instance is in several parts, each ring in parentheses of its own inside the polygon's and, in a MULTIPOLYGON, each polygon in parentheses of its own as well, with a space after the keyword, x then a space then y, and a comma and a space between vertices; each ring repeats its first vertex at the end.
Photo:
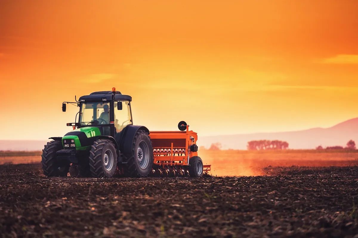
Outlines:
POLYGON ((110 140, 97 140, 89 152, 89 169, 95 178, 111 178, 117 168, 116 148, 110 140))

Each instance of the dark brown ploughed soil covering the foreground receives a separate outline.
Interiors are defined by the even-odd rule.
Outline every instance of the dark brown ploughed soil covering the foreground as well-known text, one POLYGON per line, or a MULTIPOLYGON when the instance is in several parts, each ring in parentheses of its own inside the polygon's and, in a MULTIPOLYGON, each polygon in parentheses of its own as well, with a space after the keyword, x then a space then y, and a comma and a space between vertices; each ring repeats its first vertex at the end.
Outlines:
POLYGON ((358 237, 358 167, 264 176, 47 178, 0 165, 0 237, 358 237))

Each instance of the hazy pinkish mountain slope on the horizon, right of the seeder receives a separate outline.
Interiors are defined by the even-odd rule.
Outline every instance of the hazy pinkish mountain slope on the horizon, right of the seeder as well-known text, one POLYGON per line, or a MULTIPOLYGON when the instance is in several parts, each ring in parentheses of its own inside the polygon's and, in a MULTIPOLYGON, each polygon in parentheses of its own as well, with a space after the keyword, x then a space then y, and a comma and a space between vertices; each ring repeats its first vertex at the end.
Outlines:
POLYGON ((198 138, 198 146, 209 148, 212 143, 220 142, 223 149, 246 150, 251 140, 281 140, 289 143, 290 149, 315 149, 321 145, 343 146, 354 140, 358 147, 358 118, 339 123, 329 128, 311 128, 303 131, 253 133, 198 138))

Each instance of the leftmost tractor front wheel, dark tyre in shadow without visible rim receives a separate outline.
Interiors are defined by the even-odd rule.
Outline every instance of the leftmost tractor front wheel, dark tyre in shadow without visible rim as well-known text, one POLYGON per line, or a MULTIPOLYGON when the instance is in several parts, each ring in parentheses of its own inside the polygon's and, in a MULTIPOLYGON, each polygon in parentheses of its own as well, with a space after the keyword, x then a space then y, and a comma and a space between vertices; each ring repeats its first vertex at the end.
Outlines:
POLYGON ((47 142, 41 155, 42 170, 47 177, 67 177, 69 170, 69 162, 63 161, 59 163, 56 158, 56 152, 61 150, 61 141, 47 142))

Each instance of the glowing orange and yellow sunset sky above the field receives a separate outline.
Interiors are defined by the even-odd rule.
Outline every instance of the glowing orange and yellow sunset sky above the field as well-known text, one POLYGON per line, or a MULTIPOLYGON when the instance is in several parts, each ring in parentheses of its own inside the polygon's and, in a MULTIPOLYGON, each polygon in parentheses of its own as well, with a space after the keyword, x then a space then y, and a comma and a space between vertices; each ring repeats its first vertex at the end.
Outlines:
POLYGON ((136 125, 200 136, 358 117, 355 0, 2 0, 0 140, 63 136, 116 87, 136 125), (12 106, 11 106, 12 105, 12 106), (5 125, 9 126, 5 126, 5 125))

